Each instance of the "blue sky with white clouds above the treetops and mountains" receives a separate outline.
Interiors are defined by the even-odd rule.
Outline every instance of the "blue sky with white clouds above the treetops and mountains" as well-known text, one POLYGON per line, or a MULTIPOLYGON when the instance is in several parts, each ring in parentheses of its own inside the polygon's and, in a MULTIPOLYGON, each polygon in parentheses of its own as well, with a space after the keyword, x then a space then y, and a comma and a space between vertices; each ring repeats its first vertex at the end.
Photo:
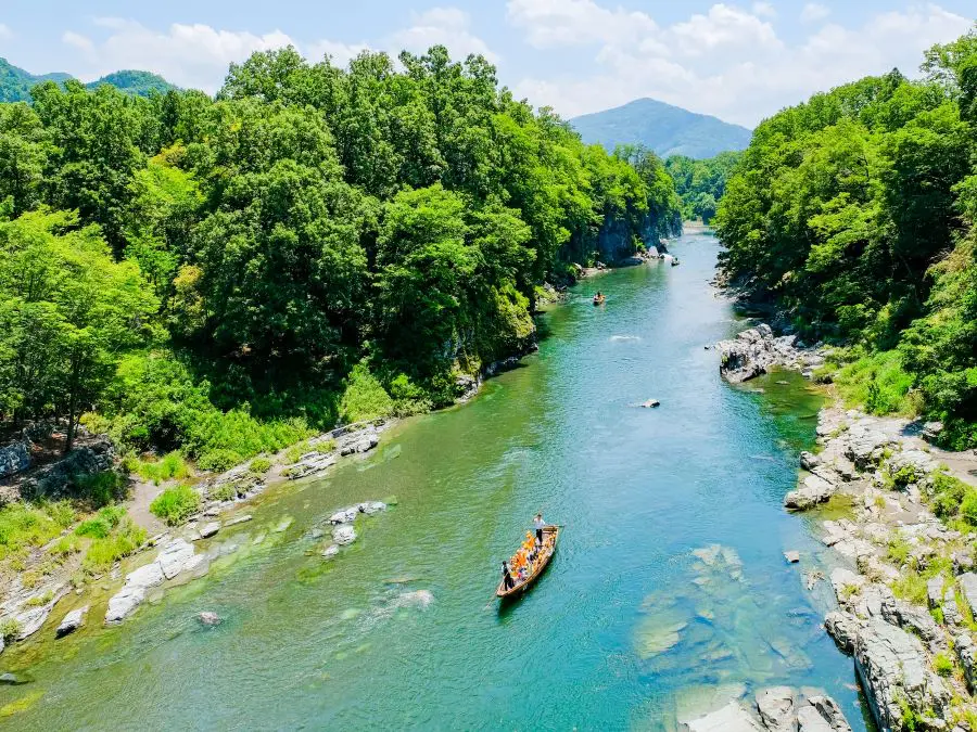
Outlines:
POLYGON ((2 0, 0 56, 84 81, 122 68, 216 91, 231 62, 294 46, 333 63, 434 43, 563 117, 650 97, 747 127, 868 74, 917 76, 977 0, 2 0))

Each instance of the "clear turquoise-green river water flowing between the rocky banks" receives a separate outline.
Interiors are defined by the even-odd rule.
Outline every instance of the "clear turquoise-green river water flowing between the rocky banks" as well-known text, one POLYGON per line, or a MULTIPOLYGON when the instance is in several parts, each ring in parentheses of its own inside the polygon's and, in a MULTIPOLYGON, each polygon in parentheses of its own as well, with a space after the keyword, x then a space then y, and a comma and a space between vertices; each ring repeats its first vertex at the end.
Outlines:
POLYGON ((218 536, 241 548, 206 579, 119 628, 98 627, 102 600, 78 634, 8 651, 0 670, 35 681, 0 688, 0 706, 43 696, 0 725, 670 730, 710 697, 788 683, 825 689, 864 729, 851 662, 782 555, 817 547, 781 500, 819 397, 789 375, 765 394, 720 381, 703 345, 737 325, 707 284, 715 242, 673 249, 681 267, 580 285, 540 352, 471 403, 266 493, 218 536), (661 407, 632 406, 650 397, 661 407), (304 538, 391 496, 331 563, 304 538), (498 562, 540 510, 567 525, 559 550, 500 609, 498 562), (201 627, 204 609, 225 621, 201 627))

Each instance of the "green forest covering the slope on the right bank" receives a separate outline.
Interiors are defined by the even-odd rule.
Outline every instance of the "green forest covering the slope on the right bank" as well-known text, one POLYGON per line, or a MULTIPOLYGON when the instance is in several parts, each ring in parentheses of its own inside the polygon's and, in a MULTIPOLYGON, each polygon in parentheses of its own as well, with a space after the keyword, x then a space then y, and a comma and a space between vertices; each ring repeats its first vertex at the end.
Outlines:
POLYGON ((868 77, 763 121, 716 215, 729 282, 836 344, 822 374, 977 446, 977 30, 924 78, 868 77))

